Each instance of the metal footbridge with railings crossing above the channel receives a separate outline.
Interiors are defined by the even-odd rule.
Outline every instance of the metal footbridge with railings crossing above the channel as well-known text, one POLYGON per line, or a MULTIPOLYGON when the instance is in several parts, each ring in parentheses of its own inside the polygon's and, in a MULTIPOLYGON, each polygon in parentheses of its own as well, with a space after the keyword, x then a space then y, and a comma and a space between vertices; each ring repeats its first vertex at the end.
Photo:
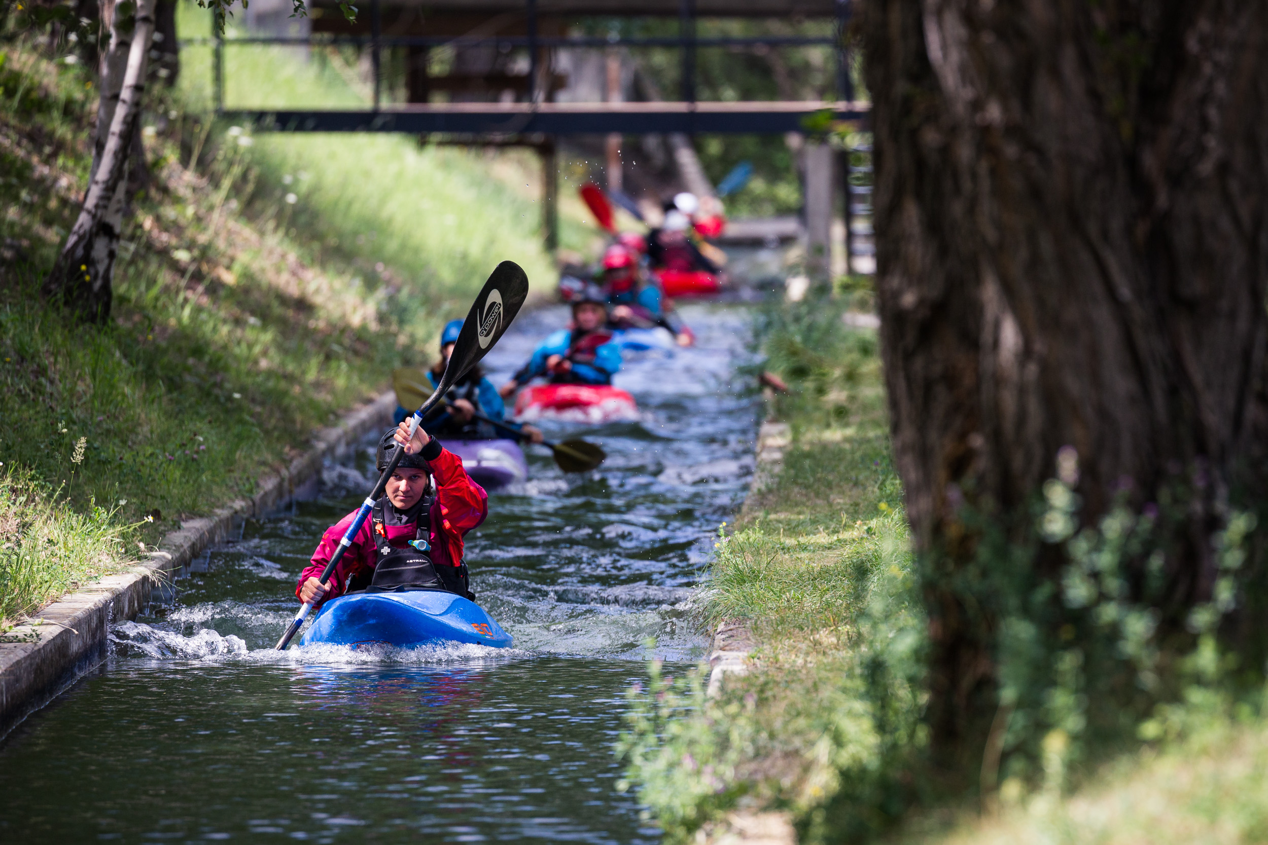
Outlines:
MULTIPOLYGON (((255 0, 256 13, 269 0, 255 0)), ((289 14, 290 3, 280 8, 289 14)), ((555 191, 558 138, 607 136, 609 163, 618 163, 621 136, 662 134, 690 137, 715 133, 782 134, 805 132, 808 125, 852 122, 862 127, 867 104, 853 101, 850 77, 850 0, 369 0, 349 22, 337 0, 312 0, 306 32, 186 39, 185 44, 212 47, 213 96, 219 115, 250 123, 266 132, 397 132, 479 146, 517 144, 543 156, 543 210, 548 246, 555 243, 555 191), (782 19, 831 23, 824 34, 699 35, 697 22, 708 19, 782 19), (654 19, 670 34, 629 35, 612 27, 607 35, 576 34, 579 20, 654 19), (673 22, 676 20, 676 27, 673 22), (226 103, 226 51, 251 46, 356 47, 369 54, 373 96, 365 108, 235 108, 226 103), (719 101, 697 96, 697 57, 705 49, 770 51, 814 48, 832 54, 834 90, 819 100, 719 101), (445 72, 431 72, 434 51, 451 57, 445 72), (676 51, 678 85, 664 96, 612 95, 611 57, 619 51, 676 51), (577 79, 602 75, 602 68, 557 72, 560 57, 577 51, 609 57, 606 80, 577 79), (510 60, 515 61, 510 61, 510 60), (403 96, 389 101, 384 63, 389 61, 403 96), (598 95, 577 94, 581 85, 598 95), (612 151, 616 149, 616 153, 612 151)), ((256 13, 259 14, 259 13, 256 13)), ((279 11, 281 14, 281 11, 279 11)), ((284 22, 285 18, 278 18, 284 22)), ((274 27, 281 29, 281 27, 274 27)), ((590 27, 591 30, 595 27, 590 27)), ((625 27, 631 29, 631 27, 625 27)), ((716 29, 716 27, 714 28, 716 29)), ((785 28, 786 29, 786 28, 785 28)), ((230 71, 232 63, 230 65, 230 71)), ((620 68, 616 71, 620 75, 620 68)), ((644 92, 645 94, 645 92, 644 92)), ((825 152, 825 151, 823 151, 825 152)), ((812 242, 831 220, 833 196, 850 196, 851 156, 806 156, 806 231, 812 242), (818 182, 818 186, 815 185, 818 182), (823 185, 837 186, 824 195, 823 185), (814 208, 812 208, 812 205, 814 208)), ((610 167, 611 170, 611 167, 610 167)), ((616 186, 620 175, 615 174, 616 186)), ((610 185, 612 175, 609 175, 610 185)), ((855 180, 857 181, 857 179, 855 180)), ((857 193, 857 186, 855 189, 857 193)), ((844 203, 847 231, 858 229, 844 203)), ((855 241, 856 238, 851 238, 855 241)), ((813 246, 813 243, 812 243, 813 246)))

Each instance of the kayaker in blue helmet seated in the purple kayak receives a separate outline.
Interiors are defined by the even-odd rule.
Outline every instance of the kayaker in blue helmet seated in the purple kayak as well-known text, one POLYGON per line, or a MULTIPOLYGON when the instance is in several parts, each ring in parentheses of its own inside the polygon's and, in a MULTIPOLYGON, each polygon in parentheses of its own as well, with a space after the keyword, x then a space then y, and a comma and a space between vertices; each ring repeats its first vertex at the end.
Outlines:
MULTIPOLYGON (((449 366, 449 356, 453 353, 454 343, 458 342, 458 334, 462 331, 463 321, 460 319, 451 319, 445 323, 445 328, 440 333, 440 359, 427 370, 427 381, 431 383, 432 389, 440 384, 440 379, 445 375, 445 367, 449 366)), ((502 402, 502 395, 493 386, 493 383, 486 378, 484 369, 478 364, 463 376, 462 381, 450 388, 449 395, 445 398, 448 403, 437 405, 436 410, 427 414, 422 421, 422 428, 432 437, 444 437, 450 441, 507 437, 505 429, 474 418, 476 414, 481 414, 496 422, 505 423, 506 428, 521 432, 533 443, 541 442, 543 435, 539 428, 506 422, 506 404, 502 402)), ((396 422, 399 424, 411 413, 413 412, 397 405, 396 422)))

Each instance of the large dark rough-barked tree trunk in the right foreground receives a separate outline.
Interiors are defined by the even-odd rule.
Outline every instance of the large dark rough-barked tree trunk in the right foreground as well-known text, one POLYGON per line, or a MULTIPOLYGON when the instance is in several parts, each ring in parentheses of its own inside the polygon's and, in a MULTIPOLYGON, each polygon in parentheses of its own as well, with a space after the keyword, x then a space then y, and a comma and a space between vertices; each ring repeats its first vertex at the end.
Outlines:
POLYGON ((866 0, 861 25, 929 720, 937 747, 976 745, 997 619, 967 512, 1022 532, 1066 445, 1084 519, 1188 489, 1175 622, 1210 595, 1230 497, 1268 490, 1268 5, 866 0))

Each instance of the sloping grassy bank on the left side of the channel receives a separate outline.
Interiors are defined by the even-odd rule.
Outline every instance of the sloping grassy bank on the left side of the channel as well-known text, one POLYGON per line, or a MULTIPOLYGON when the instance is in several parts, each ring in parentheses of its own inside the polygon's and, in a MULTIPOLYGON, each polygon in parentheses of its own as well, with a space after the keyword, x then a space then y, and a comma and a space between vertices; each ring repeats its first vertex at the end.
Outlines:
MULTIPOLYGON (((37 289, 77 213, 96 90, 66 43, 46 47, 18 37, 0 58, 0 619, 252 493, 392 367, 429 360, 497 261, 554 281, 538 205, 512 187, 522 162, 406 138, 252 137, 202 110, 186 65, 190 86, 147 101, 151 181, 112 318, 68 322, 37 289), (91 560, 48 554, 86 518, 118 542, 91 560)), ((346 82, 318 81, 344 96, 346 82)))

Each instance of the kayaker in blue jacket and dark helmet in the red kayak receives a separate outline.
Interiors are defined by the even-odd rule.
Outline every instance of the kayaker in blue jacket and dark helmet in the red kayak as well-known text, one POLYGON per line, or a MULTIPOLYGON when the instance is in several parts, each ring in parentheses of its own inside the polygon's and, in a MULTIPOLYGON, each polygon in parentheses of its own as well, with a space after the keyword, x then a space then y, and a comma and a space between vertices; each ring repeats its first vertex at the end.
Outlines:
POLYGON ((621 369, 621 350, 607 328, 607 296, 587 285, 572 302, 572 328, 548 336, 529 362, 500 389, 502 397, 515 393, 536 378, 552 384, 611 384, 621 369))

